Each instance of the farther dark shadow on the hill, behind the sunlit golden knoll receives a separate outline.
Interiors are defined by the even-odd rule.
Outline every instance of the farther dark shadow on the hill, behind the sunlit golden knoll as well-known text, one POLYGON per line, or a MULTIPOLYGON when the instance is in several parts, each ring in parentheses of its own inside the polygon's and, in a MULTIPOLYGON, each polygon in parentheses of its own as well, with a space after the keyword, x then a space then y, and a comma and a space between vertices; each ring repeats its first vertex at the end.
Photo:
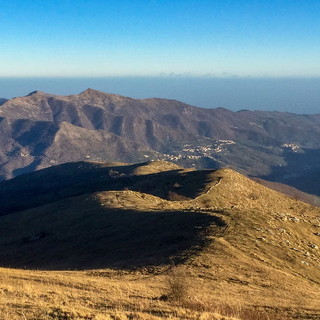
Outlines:
POLYGON ((212 173, 171 170, 134 175, 137 167, 67 163, 4 181, 0 183, 0 216, 99 191, 131 189, 169 200, 191 199, 205 189, 212 173))

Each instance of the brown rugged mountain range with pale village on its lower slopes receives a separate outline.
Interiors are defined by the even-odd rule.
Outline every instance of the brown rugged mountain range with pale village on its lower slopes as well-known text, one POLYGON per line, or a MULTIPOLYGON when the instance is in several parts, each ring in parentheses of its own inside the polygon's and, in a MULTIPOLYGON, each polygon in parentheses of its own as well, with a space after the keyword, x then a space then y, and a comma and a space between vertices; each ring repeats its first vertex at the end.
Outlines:
POLYGON ((229 166, 319 194, 320 115, 203 109, 92 89, 35 91, 3 103, 0 132, 1 179, 69 161, 163 159, 229 166))

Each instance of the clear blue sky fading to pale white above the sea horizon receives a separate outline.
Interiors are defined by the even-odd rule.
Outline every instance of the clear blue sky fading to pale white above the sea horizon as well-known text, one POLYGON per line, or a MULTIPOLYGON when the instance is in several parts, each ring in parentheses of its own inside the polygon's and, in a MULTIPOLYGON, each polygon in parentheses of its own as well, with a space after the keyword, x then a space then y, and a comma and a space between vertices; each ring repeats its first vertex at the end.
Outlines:
POLYGON ((317 0, 0 0, 0 76, 320 76, 317 0))

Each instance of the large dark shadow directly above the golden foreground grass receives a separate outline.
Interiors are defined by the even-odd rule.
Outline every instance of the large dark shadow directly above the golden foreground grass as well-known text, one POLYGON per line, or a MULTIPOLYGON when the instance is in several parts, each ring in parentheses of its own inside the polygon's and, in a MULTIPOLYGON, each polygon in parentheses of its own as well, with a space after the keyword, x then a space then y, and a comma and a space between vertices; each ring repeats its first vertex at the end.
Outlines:
POLYGON ((213 236, 225 230, 220 218, 204 213, 104 209, 94 200, 73 202, 35 210, 31 218, 0 218, 0 266, 132 270, 179 264, 203 249, 209 232, 213 236))

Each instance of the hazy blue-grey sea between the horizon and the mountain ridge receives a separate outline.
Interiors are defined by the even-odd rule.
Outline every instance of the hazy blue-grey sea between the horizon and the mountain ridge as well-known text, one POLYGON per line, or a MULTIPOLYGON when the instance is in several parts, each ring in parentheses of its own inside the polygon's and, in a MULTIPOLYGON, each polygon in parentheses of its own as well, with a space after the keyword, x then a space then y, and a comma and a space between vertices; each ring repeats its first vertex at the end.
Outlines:
POLYGON ((0 78, 0 98, 34 90, 78 94, 87 88, 140 99, 175 99, 203 108, 320 113, 320 78, 0 78))

